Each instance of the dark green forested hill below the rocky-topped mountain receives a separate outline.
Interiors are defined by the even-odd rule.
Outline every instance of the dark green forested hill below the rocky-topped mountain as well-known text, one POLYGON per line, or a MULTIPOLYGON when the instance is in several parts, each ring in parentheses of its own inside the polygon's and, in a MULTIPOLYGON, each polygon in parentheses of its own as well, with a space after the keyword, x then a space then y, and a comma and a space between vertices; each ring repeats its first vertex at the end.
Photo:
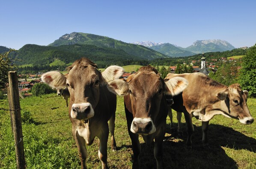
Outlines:
MULTIPOLYGON (((124 52, 122 49, 112 49, 93 45, 62 45, 62 46, 39 46, 27 44, 12 53, 15 58, 23 60, 18 64, 47 65, 59 59, 64 63, 72 63, 80 57, 87 57, 105 67, 109 64, 124 64, 125 61, 140 60, 136 56, 124 52)), ((121 65, 122 65, 121 64, 121 65)))

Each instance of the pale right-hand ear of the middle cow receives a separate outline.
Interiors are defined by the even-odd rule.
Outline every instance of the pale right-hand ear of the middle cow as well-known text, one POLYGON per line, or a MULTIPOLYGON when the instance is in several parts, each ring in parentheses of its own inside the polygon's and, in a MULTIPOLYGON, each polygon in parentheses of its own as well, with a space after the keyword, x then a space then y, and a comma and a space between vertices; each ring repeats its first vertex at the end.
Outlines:
POLYGON ((188 80, 183 77, 173 77, 165 82, 166 95, 178 95, 188 86, 188 80))

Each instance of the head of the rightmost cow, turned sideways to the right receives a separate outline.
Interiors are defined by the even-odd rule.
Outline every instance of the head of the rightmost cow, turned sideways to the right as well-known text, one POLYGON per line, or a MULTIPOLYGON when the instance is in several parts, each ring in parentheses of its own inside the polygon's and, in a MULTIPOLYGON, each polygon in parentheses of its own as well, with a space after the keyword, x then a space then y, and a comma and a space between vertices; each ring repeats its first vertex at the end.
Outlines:
POLYGON ((248 91, 242 91, 238 83, 232 84, 228 89, 218 92, 217 98, 221 100, 221 107, 232 118, 239 119, 240 123, 251 124, 253 117, 247 106, 248 91))

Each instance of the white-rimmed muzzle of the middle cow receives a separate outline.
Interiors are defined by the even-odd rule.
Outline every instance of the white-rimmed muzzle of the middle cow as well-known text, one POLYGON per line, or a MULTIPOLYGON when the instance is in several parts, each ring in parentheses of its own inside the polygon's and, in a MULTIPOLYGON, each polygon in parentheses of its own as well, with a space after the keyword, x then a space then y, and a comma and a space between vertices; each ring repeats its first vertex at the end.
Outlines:
POLYGON ((155 125, 151 118, 135 117, 131 123, 131 132, 139 135, 149 135, 155 132, 155 125))

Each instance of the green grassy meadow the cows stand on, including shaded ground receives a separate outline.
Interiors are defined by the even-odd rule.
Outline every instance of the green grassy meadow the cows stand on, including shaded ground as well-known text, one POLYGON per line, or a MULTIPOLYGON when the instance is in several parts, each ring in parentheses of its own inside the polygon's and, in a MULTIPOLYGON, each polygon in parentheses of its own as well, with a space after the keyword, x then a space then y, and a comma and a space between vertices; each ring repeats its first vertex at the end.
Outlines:
MULTIPOLYGON (((80 160, 71 133, 68 108, 63 97, 56 94, 27 97, 21 102, 24 151, 27 169, 80 169, 80 160)), ((256 99, 247 104, 256 117, 256 99)), ((15 147, 10 124, 7 100, 0 100, 0 169, 15 169, 15 147)), ((203 148, 201 123, 193 118, 195 132, 193 149, 186 149, 186 124, 182 118, 183 136, 178 137, 176 112, 175 127, 170 129, 167 117, 167 133, 164 141, 164 166, 166 169, 255 169, 256 122, 244 125, 238 120, 222 115, 215 116, 208 129, 210 148, 203 148)), ((116 130, 117 151, 112 152, 108 140, 108 166, 110 169, 131 169, 133 152, 128 136, 123 97, 117 97, 116 130)), ((142 169, 156 168, 153 148, 147 147, 140 137, 142 169)), ((87 146, 89 169, 101 169, 98 158, 98 138, 87 146)))

